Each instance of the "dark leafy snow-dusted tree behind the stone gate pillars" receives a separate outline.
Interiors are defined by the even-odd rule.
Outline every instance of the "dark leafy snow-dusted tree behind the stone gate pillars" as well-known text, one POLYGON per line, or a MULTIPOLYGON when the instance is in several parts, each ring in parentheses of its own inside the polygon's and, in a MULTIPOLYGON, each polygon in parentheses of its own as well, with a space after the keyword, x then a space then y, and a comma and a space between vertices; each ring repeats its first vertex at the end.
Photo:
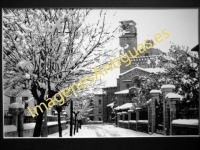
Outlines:
POLYGON ((145 106, 150 99, 152 89, 161 90, 164 84, 175 85, 175 93, 182 95, 182 103, 188 103, 189 107, 198 108, 199 98, 199 58, 190 52, 188 47, 172 45, 169 49, 168 65, 165 71, 160 73, 151 73, 148 77, 139 77, 141 89, 137 105, 145 106), (144 97, 145 100, 142 101, 144 97))

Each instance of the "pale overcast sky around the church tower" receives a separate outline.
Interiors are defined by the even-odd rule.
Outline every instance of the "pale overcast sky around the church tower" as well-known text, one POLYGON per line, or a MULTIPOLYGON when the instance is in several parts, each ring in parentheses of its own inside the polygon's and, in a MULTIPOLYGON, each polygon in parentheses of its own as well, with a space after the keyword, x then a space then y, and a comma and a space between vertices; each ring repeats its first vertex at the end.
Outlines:
MULTIPOLYGON (((137 28, 137 43, 145 39, 153 39, 154 35, 163 29, 170 34, 168 39, 158 43, 155 48, 168 52, 170 45, 184 45, 189 49, 198 44, 198 9, 104 9, 107 11, 106 23, 113 28, 120 25, 120 21, 133 20, 137 28)), ((99 9, 91 11, 90 19, 98 18, 99 9)), ((110 44, 110 48, 120 47, 118 37, 110 44)), ((117 85, 119 69, 109 71, 101 79, 107 81, 106 86, 117 85)))

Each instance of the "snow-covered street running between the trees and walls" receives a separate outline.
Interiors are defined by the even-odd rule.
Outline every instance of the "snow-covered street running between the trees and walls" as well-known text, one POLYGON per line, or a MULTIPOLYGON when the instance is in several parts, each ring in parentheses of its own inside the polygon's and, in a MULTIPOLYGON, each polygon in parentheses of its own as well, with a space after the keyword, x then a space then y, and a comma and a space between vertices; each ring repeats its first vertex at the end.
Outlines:
MULTIPOLYGON (((48 135, 49 138, 59 138, 58 133, 48 135)), ((62 137, 71 138, 69 136, 69 127, 62 131, 62 137)), ((89 138, 89 137, 163 137, 160 134, 147 134, 143 132, 136 132, 134 130, 115 127, 114 125, 95 124, 82 125, 81 129, 73 135, 75 138, 89 138)))

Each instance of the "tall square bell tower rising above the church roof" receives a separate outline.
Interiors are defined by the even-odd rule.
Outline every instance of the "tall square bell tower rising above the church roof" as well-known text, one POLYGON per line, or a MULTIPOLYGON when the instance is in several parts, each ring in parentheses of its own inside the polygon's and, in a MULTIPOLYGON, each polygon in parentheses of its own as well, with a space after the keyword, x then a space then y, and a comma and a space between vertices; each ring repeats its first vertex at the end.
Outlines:
MULTIPOLYGON (((135 54, 133 52, 133 48, 135 47, 137 49, 137 28, 135 27, 136 23, 133 20, 121 21, 120 23, 123 30, 122 35, 119 37, 119 45, 122 47, 120 54, 127 52, 128 50, 131 50, 131 52, 135 54)), ((131 69, 131 66, 132 65, 125 66, 125 64, 122 63, 120 67, 120 73, 131 69)))

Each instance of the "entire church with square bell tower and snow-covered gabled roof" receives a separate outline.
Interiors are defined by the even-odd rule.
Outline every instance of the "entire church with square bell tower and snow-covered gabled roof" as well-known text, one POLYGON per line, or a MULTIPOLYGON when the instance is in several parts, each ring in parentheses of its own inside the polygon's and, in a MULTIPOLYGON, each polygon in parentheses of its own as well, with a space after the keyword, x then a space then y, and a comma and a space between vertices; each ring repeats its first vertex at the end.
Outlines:
MULTIPOLYGON (((131 64, 125 66, 124 63, 121 63, 120 75, 116 80, 117 86, 103 88, 107 93, 107 95, 104 95, 104 122, 108 122, 108 118, 111 116, 112 109, 110 109, 109 104, 115 102, 114 107, 117 107, 132 102, 131 90, 137 86, 139 76, 149 76, 151 73, 162 72, 164 70, 163 68, 169 65, 168 62, 170 61, 169 57, 161 50, 154 47, 147 49, 146 44, 144 44, 146 49, 142 49, 144 52, 138 52, 139 55, 137 55, 136 23, 132 20, 122 21, 120 23, 123 29, 123 34, 119 37, 119 45, 123 48, 120 54, 126 53, 131 59, 131 64), (132 58, 130 50, 132 55, 137 57, 132 58)), ((152 40, 148 40, 148 43, 154 46, 152 40)))

